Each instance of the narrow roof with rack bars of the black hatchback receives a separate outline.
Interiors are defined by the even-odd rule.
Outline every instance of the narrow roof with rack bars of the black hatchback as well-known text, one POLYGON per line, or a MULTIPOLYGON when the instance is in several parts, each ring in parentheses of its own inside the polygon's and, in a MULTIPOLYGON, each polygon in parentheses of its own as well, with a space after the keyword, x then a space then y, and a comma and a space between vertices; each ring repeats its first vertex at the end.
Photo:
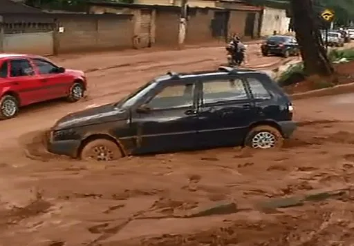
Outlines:
MULTIPOLYGON (((196 71, 196 72, 167 72, 167 74, 158 76, 155 81, 167 82, 174 81, 174 79, 191 79, 198 78, 201 76, 217 76, 217 75, 227 75, 227 74, 266 74, 265 72, 259 70, 252 70, 247 68, 234 69, 230 67, 220 67, 218 70, 207 70, 207 71, 196 71)), ((268 76, 268 75, 267 75, 268 76)))

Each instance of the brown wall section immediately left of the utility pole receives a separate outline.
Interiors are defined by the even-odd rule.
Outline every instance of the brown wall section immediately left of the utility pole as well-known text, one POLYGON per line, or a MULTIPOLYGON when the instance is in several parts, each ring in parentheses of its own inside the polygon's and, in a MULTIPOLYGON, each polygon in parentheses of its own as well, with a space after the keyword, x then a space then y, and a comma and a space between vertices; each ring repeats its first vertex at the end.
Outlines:
POLYGON ((178 45, 180 13, 156 10, 155 43, 162 46, 178 45))

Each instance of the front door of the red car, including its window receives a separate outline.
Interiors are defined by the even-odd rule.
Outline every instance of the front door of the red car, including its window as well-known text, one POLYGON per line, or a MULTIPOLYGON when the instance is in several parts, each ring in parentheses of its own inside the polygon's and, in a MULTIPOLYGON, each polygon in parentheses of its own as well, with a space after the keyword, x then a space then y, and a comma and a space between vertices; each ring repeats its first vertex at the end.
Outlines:
POLYGON ((56 99, 66 96, 73 85, 73 76, 66 73, 58 73, 57 65, 43 58, 32 58, 32 63, 40 76, 41 85, 46 87, 48 99, 56 99))

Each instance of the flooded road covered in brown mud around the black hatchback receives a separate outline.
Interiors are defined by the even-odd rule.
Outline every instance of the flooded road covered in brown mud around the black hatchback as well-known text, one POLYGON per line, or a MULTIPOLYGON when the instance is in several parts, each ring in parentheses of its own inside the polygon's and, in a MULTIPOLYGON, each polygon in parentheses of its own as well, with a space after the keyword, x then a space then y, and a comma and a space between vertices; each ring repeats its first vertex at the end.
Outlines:
MULTIPOLYGON (((0 245, 354 243, 353 94, 295 101, 299 130, 278 152, 223 148, 109 165, 24 155, 28 133, 68 112, 117 101, 166 70, 216 68, 224 60, 223 48, 57 59, 88 72, 90 94, 80 103, 28 107, 1 122, 0 245), (298 198, 323 189, 340 192, 298 198), (203 214, 208 206, 223 215, 203 214)), ((251 67, 278 60, 261 57, 256 45, 248 54, 251 67)))

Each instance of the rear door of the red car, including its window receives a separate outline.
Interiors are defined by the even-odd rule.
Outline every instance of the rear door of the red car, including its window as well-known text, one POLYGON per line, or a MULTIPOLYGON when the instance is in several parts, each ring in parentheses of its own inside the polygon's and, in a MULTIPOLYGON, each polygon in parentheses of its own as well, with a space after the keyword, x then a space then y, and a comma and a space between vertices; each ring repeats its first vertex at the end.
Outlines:
POLYGON ((10 90, 19 94, 21 105, 37 103, 46 98, 46 88, 41 87, 39 76, 28 59, 9 59, 8 63, 10 65, 8 85, 10 90))

